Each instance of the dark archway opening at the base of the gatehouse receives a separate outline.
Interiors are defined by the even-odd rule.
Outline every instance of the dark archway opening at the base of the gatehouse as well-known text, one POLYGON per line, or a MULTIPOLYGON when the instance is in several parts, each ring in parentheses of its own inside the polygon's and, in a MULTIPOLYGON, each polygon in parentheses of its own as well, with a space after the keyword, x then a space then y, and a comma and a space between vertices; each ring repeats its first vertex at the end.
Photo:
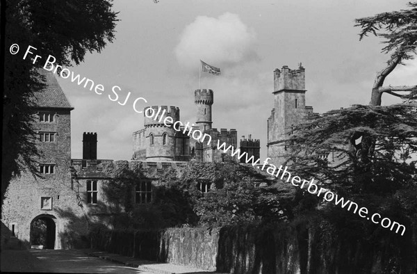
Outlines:
POLYGON ((56 226, 54 220, 48 216, 40 216, 31 223, 31 246, 42 246, 44 249, 54 249, 56 226))

